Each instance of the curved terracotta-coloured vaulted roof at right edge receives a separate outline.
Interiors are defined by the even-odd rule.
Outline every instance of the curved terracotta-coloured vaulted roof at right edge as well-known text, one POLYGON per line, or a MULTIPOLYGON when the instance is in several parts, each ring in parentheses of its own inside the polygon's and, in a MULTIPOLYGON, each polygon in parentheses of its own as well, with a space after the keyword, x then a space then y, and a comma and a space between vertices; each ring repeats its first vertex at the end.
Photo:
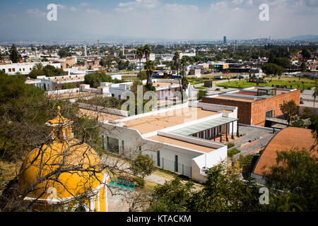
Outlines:
MULTIPOLYGON (((312 131, 297 127, 287 127, 276 134, 266 146, 254 167, 254 174, 264 175, 266 170, 276 165, 277 150, 290 150, 298 147, 299 150, 306 148, 310 150, 314 144, 312 131)), ((314 153, 317 155, 317 153, 314 153)))

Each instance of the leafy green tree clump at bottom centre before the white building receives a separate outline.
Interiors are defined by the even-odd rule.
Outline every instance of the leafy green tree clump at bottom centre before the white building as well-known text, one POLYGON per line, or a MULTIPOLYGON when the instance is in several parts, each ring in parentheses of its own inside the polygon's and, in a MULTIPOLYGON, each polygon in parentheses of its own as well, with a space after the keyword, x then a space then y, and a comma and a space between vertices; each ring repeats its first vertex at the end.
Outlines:
POLYGON ((195 190, 192 182, 176 178, 155 187, 148 211, 229 212, 259 211, 259 189, 249 177, 241 180, 235 170, 220 164, 206 170, 206 182, 195 190))

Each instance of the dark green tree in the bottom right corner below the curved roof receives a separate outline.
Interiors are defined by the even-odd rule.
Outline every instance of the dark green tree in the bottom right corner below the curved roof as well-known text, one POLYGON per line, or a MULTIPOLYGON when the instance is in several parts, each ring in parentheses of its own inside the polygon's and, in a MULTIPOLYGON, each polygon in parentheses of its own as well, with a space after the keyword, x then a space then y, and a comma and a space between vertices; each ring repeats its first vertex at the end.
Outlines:
POLYGON ((284 193, 274 198, 276 210, 318 210, 318 164, 316 150, 277 151, 276 165, 266 173, 266 183, 284 193), (288 199, 287 208, 281 209, 288 199))

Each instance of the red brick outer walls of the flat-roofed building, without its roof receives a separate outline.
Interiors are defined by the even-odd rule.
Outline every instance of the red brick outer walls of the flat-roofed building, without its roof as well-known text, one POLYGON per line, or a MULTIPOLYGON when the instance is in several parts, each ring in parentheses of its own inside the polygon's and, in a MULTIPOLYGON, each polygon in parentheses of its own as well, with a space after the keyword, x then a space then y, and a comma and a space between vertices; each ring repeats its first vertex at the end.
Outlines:
POLYGON ((237 118, 240 123, 256 126, 264 126, 266 112, 273 110, 273 117, 278 117, 282 114, 279 105, 283 102, 294 100, 297 105, 300 105, 300 90, 295 90, 290 93, 283 93, 268 99, 259 100, 256 102, 244 102, 239 100, 223 100, 213 97, 203 97, 202 102, 228 105, 237 107, 237 118))

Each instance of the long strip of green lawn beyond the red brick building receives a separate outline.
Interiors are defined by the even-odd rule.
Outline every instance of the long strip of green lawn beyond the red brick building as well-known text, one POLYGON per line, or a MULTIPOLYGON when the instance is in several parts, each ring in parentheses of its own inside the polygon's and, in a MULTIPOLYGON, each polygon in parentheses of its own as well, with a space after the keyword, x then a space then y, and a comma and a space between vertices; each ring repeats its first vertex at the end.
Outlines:
MULTIPOLYGON (((307 90, 308 88, 312 88, 316 85, 314 80, 309 78, 289 78, 289 77, 282 77, 280 80, 278 78, 266 78, 267 83, 259 83, 258 86, 269 86, 272 85, 287 85, 287 88, 290 88, 292 85, 293 88, 300 88, 307 90), (302 85, 302 82, 304 83, 302 85)), ((218 83, 218 86, 221 87, 230 87, 230 88, 249 88, 252 86, 257 86, 257 83, 249 83, 248 80, 241 80, 241 81, 231 81, 225 83, 218 83)))

